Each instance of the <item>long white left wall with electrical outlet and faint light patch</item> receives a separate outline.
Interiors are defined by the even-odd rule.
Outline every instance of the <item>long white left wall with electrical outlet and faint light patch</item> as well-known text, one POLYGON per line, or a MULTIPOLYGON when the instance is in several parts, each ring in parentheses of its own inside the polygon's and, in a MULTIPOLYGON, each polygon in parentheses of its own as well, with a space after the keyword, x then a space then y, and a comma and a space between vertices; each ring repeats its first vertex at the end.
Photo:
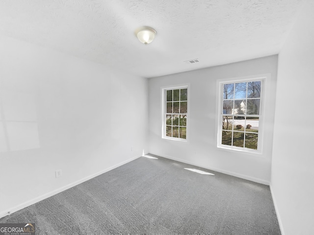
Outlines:
POLYGON ((0 55, 0 216, 147 152, 147 79, 4 37, 0 55))

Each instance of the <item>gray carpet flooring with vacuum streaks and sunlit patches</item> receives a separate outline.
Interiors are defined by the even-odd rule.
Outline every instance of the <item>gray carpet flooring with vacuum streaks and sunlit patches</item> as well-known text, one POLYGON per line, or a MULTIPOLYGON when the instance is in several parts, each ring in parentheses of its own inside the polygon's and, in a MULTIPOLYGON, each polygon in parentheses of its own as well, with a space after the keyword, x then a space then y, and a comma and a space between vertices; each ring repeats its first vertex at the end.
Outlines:
POLYGON ((155 157, 140 157, 0 223, 35 223, 37 235, 280 235, 268 186, 155 157))

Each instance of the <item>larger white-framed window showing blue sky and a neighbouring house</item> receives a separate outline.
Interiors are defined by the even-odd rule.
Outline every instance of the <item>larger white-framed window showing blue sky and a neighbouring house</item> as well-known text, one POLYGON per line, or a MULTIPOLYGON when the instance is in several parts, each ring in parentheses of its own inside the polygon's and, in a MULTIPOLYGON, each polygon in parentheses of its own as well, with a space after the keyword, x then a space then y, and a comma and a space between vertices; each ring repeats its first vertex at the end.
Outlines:
POLYGON ((261 152, 263 81, 220 82, 218 147, 261 152))

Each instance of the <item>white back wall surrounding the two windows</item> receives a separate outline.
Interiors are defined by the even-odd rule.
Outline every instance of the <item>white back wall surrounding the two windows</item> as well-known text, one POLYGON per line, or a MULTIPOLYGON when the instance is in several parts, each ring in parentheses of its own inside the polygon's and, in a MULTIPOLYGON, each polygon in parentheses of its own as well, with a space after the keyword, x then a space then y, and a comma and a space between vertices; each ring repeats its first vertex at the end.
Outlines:
MULTIPOLYGON (((226 55, 227 56, 227 55, 226 55)), ((149 79, 150 153, 269 184, 272 154, 277 55, 149 79), (271 74, 266 90, 262 155, 218 149, 215 141, 216 81, 271 74), (161 87, 190 84, 189 141, 161 139, 161 87)))

